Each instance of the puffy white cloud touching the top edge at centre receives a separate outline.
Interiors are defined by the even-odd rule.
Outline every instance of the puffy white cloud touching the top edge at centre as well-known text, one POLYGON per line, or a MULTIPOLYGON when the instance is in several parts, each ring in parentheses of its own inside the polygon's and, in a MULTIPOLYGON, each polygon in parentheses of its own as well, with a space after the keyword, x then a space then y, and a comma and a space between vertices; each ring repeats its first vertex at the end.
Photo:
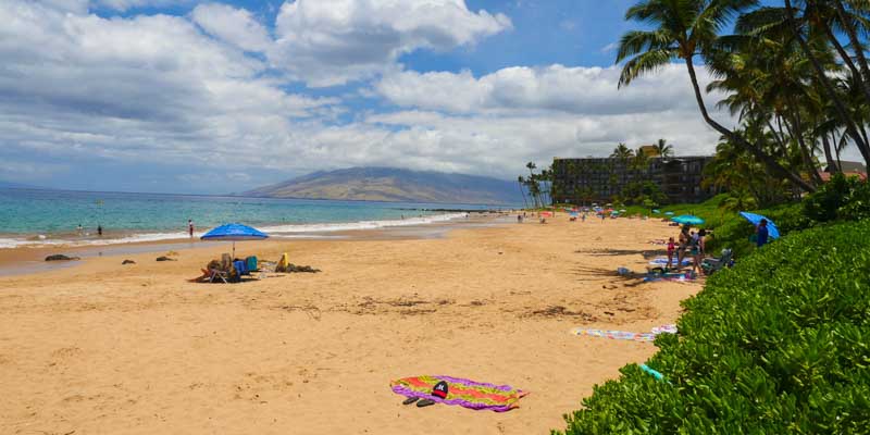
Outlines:
POLYGON ((402 53, 449 50, 511 27, 464 0, 296 0, 276 20, 270 60, 311 86, 372 77, 402 53))

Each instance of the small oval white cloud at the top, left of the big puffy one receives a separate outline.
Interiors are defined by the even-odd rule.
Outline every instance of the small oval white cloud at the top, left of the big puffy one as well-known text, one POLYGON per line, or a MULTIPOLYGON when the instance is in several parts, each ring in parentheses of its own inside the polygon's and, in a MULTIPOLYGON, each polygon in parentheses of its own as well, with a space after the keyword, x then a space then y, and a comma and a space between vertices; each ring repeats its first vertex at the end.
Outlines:
POLYGON ((264 51, 272 44, 269 32, 244 9, 226 4, 200 4, 191 13, 206 32, 247 51, 264 51))

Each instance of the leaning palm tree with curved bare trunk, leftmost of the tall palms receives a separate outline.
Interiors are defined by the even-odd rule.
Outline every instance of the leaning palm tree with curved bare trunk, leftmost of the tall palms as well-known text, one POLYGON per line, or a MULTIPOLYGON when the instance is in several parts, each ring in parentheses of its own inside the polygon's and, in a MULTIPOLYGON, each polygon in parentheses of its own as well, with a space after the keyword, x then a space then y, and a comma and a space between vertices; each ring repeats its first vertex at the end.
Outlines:
POLYGON ((749 151, 774 174, 787 178, 805 191, 815 191, 799 174, 785 169, 757 144, 725 128, 707 112, 695 72, 695 57, 717 50, 719 30, 741 11, 755 5, 756 0, 642 0, 625 13, 625 18, 652 25, 651 30, 631 30, 620 40, 617 62, 627 59, 622 67, 619 86, 669 64, 674 59, 685 61, 695 100, 704 121, 713 129, 749 151), (629 59, 631 58, 631 59, 629 59))

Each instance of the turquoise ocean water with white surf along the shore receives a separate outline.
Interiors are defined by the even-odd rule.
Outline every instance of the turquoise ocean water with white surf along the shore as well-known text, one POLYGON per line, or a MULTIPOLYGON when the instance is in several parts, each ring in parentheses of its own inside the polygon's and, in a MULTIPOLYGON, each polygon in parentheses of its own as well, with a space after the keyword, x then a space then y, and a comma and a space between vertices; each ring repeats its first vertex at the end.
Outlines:
POLYGON ((0 248, 110 245, 187 237, 229 222, 273 237, 423 225, 464 216, 435 209, 492 210, 486 204, 327 201, 191 195, 0 189, 0 248), (83 231, 78 231, 78 225, 83 231), (97 236, 102 225, 103 236, 97 236))

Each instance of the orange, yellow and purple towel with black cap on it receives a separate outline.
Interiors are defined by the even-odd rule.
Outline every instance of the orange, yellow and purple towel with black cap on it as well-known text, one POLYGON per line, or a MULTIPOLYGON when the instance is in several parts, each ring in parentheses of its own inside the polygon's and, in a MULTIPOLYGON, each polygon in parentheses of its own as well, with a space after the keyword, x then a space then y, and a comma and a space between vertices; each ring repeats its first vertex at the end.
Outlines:
POLYGON ((393 393, 406 397, 431 399, 445 405, 459 405, 473 410, 510 411, 529 394, 510 385, 495 385, 451 376, 413 376, 391 381, 393 393), (438 389, 436 390, 436 386, 438 389), (445 391, 446 389, 446 391, 445 391))

